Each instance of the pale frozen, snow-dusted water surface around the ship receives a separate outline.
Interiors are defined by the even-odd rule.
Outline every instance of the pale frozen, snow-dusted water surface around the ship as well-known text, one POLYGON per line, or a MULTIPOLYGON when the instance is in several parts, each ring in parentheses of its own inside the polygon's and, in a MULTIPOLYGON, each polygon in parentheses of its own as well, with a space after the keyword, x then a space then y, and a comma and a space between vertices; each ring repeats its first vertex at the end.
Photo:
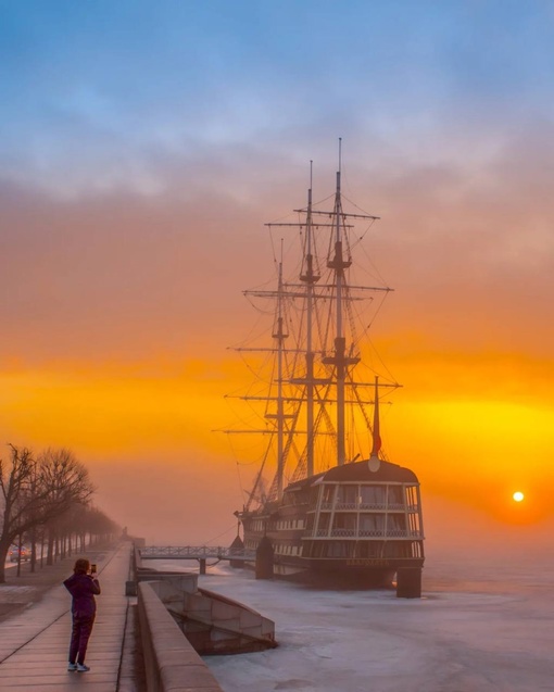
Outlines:
POLYGON ((200 586, 275 620, 279 646, 206 663, 225 692, 552 692, 549 559, 435 556, 420 600, 256 581, 218 566, 200 586))

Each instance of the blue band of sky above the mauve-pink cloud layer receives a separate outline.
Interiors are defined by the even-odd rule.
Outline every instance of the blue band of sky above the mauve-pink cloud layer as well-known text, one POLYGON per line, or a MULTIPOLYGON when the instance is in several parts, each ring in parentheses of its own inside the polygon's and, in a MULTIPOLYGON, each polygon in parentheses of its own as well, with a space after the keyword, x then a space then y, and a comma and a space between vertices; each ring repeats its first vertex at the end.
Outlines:
POLYGON ((0 175, 59 193, 158 189, 160 159, 237 143, 305 158, 342 135, 433 159, 435 140, 552 122, 546 2, 1 8, 0 175))

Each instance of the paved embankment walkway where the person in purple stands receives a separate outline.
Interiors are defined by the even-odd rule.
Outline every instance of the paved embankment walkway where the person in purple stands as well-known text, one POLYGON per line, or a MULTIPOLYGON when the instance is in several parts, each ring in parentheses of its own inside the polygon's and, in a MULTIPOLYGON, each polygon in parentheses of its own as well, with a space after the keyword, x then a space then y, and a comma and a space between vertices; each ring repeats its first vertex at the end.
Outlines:
MULTIPOLYGON (((71 596, 62 584, 0 622, 2 692, 135 692, 131 600, 125 595, 130 543, 98 555, 102 594, 87 652, 89 672, 67 671, 71 596)), ((70 570, 71 574, 71 570, 70 570)), ((67 576, 70 576, 70 574, 67 576)))

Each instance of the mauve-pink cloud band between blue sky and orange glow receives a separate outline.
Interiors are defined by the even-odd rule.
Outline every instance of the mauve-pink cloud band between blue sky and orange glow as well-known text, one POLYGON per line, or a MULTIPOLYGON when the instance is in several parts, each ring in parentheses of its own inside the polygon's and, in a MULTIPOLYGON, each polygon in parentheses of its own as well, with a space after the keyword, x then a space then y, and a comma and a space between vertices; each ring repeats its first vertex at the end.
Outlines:
MULTIPOLYGON (((519 129, 474 168, 385 143, 347 160, 345 192, 382 216, 369 252, 399 289, 395 330, 468 349, 552 343, 551 130, 519 129)), ((319 197, 333 187, 323 168, 319 197)), ((4 183, 4 352, 175 352, 207 335, 223 348, 243 327, 240 291, 273 275, 263 224, 304 203, 307 165, 259 143, 153 155, 146 171, 148 194, 127 181, 60 199, 4 183)))

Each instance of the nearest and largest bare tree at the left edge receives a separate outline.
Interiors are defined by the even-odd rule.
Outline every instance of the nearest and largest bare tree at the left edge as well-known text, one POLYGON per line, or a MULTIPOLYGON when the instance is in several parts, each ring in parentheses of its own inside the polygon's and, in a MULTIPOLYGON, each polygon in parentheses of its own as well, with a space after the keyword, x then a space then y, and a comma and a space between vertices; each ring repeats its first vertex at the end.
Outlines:
POLYGON ((16 537, 61 517, 75 503, 86 503, 93 487, 71 451, 49 449, 35 460, 30 450, 11 444, 10 462, 0 460, 0 583, 5 583, 5 557, 16 537))

